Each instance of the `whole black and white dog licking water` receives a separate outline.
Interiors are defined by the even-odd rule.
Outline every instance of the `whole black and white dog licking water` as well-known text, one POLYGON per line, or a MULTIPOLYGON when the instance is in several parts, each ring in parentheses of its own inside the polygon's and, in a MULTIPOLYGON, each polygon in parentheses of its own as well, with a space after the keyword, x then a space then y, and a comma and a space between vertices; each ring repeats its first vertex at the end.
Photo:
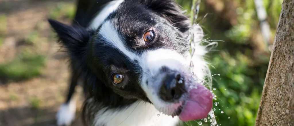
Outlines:
POLYGON ((201 83, 210 76, 199 42, 203 32, 194 28, 198 42, 191 58, 192 26, 174 1, 80 0, 71 26, 49 23, 72 69, 57 125, 75 118, 71 96, 78 80, 86 98, 85 125, 174 126, 205 118, 211 110, 213 95, 201 83))

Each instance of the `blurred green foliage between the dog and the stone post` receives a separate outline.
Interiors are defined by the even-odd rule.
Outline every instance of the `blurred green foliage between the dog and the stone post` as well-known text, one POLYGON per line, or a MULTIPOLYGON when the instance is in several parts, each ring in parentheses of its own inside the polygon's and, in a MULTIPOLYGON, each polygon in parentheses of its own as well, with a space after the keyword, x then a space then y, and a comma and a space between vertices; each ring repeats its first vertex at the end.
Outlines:
MULTIPOLYGON (((191 0, 176 1, 190 12, 191 0)), ((263 0, 273 36, 282 1, 263 0)), ((225 41, 218 42, 216 48, 218 51, 211 51, 207 58, 213 66, 211 67, 213 88, 216 88, 213 93, 217 96, 217 100, 213 102, 219 103, 217 106, 213 105, 213 108, 218 125, 253 126, 270 57, 270 52, 266 48, 257 47, 265 44, 256 38, 261 34, 254 1, 218 0, 213 3, 201 1, 198 22, 203 27, 208 40, 225 41), (212 4, 223 5, 223 11, 214 8, 212 4), (236 15, 227 16, 229 7, 226 6, 234 6, 230 7, 230 10, 235 8, 236 15), (206 14, 208 16, 203 18, 206 14), (231 23, 232 19, 237 23, 231 23)), ((201 125, 210 125, 209 121, 205 123, 203 120, 184 124, 194 126, 199 125, 200 122, 201 125)))

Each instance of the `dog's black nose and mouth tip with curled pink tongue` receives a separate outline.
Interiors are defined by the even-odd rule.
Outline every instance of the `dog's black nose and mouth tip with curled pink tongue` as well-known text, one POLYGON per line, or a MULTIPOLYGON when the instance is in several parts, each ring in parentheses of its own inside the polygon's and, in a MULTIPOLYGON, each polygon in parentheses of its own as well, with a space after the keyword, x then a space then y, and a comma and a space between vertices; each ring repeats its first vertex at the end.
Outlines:
POLYGON ((190 74, 162 67, 163 75, 159 97, 169 103, 181 103, 172 116, 182 121, 205 118, 212 108, 212 93, 202 84, 191 79, 190 74))

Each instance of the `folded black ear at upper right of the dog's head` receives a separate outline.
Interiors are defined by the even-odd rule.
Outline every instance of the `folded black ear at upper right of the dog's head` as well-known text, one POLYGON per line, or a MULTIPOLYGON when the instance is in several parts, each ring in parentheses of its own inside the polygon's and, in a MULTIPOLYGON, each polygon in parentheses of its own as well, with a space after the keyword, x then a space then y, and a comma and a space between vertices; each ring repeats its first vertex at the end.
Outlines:
POLYGON ((183 13, 178 4, 173 0, 142 0, 148 8, 166 18, 173 26, 177 27, 182 33, 190 28, 190 20, 183 13))

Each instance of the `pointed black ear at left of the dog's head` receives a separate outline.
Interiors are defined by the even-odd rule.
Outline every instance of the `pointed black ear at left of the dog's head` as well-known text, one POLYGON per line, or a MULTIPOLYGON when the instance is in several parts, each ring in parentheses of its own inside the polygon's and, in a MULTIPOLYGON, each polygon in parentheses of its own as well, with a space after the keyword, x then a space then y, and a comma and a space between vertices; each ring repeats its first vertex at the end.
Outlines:
POLYGON ((86 28, 81 26, 66 25, 52 19, 48 21, 57 33, 61 44, 64 45, 71 54, 78 55, 85 51, 93 31, 86 30, 86 28))

